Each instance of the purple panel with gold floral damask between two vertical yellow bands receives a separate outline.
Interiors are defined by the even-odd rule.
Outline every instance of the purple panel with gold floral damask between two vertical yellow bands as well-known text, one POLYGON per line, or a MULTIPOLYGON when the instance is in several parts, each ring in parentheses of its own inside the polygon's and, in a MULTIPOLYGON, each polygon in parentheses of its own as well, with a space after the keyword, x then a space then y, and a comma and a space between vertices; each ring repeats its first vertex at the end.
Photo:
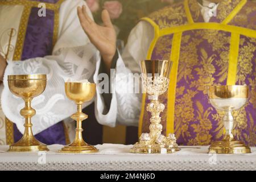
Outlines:
POLYGON ((175 101, 175 134, 183 143, 208 145, 222 137, 222 117, 208 102, 207 86, 226 81, 229 42, 230 34, 217 30, 183 35, 175 101))

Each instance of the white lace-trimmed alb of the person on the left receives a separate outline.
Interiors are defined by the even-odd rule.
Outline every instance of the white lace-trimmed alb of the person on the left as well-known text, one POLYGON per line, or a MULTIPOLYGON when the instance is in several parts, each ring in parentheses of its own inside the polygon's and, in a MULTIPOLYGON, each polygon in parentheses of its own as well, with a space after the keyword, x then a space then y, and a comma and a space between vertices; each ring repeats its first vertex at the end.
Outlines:
MULTIPOLYGON (((82 0, 66 0, 61 4, 59 36, 52 55, 25 61, 12 61, 13 54, 8 57, 9 64, 5 71, 4 89, 1 97, 2 110, 7 118, 16 123, 21 133, 24 130, 24 119, 20 116, 19 110, 24 106, 24 102, 21 98, 17 98, 10 93, 7 75, 47 74, 46 90, 42 95, 32 100, 32 107, 36 109, 36 115, 32 118, 34 134, 40 133, 40 131, 75 113, 75 104, 65 96, 64 82, 67 78, 93 81, 92 77, 96 65, 95 56, 98 51, 84 34, 77 16, 77 6, 85 4, 85 1, 82 0)), ((4 17, 11 18, 11 20, 10 18, 0 19, 1 31, 6 32, 10 27, 18 30, 23 9, 19 6, 8 6, 7 10, 9 12, 6 10, 6 6, 0 6, 0 8, 1 14, 5 13, 4 17)), ((89 9, 88 12, 90 12, 89 9)), ((92 18, 92 14, 89 13, 89 15, 92 18)), ((2 32, 0 32, 0 35, 2 32)), ((6 38, 2 39, 4 41, 1 42, 2 47, 6 47, 7 40, 6 38)), ((16 41, 16 39, 13 40, 16 41)), ((12 44, 15 45, 16 42, 12 44)), ((89 105, 89 103, 86 103, 84 107, 86 105, 89 105)))

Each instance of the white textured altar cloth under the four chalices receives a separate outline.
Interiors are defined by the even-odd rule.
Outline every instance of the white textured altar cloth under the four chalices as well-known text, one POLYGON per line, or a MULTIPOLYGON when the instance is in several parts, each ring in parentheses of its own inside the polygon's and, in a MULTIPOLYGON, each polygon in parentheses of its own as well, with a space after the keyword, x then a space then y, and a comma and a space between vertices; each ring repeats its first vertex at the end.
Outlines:
POLYGON ((132 146, 103 144, 95 154, 59 154, 61 145, 49 152, 6 152, 0 146, 0 170, 256 170, 256 147, 251 154, 207 154, 208 146, 180 146, 174 154, 131 154, 132 146), (183 148, 185 147, 185 148, 183 148))

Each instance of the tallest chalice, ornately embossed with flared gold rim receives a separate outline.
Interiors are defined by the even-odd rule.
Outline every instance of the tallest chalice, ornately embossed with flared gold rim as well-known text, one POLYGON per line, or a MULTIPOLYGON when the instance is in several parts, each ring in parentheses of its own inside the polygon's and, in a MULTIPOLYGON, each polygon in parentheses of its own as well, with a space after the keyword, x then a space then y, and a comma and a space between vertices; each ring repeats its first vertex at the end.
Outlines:
POLYGON ((144 60, 141 61, 142 85, 149 95, 151 102, 147 105, 147 111, 152 115, 150 118, 150 133, 143 133, 139 142, 135 143, 130 152, 139 154, 168 154, 179 151, 174 134, 168 137, 162 135, 163 126, 160 124, 160 113, 164 105, 158 97, 164 94, 169 85, 169 75, 172 61, 167 60, 144 60))

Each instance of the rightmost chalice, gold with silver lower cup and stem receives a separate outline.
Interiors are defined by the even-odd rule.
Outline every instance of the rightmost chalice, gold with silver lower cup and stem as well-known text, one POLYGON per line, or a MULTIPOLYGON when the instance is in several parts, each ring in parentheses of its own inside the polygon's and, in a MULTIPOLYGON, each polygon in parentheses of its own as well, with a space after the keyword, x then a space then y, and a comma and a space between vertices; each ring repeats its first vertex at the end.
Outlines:
POLYGON ((245 106, 249 97, 249 86, 209 86, 209 101, 212 106, 220 111, 224 111, 223 118, 225 134, 222 141, 213 142, 209 147, 209 152, 217 154, 246 154, 250 153, 250 147, 245 143, 234 139, 232 134, 234 119, 232 111, 239 110, 245 106))

